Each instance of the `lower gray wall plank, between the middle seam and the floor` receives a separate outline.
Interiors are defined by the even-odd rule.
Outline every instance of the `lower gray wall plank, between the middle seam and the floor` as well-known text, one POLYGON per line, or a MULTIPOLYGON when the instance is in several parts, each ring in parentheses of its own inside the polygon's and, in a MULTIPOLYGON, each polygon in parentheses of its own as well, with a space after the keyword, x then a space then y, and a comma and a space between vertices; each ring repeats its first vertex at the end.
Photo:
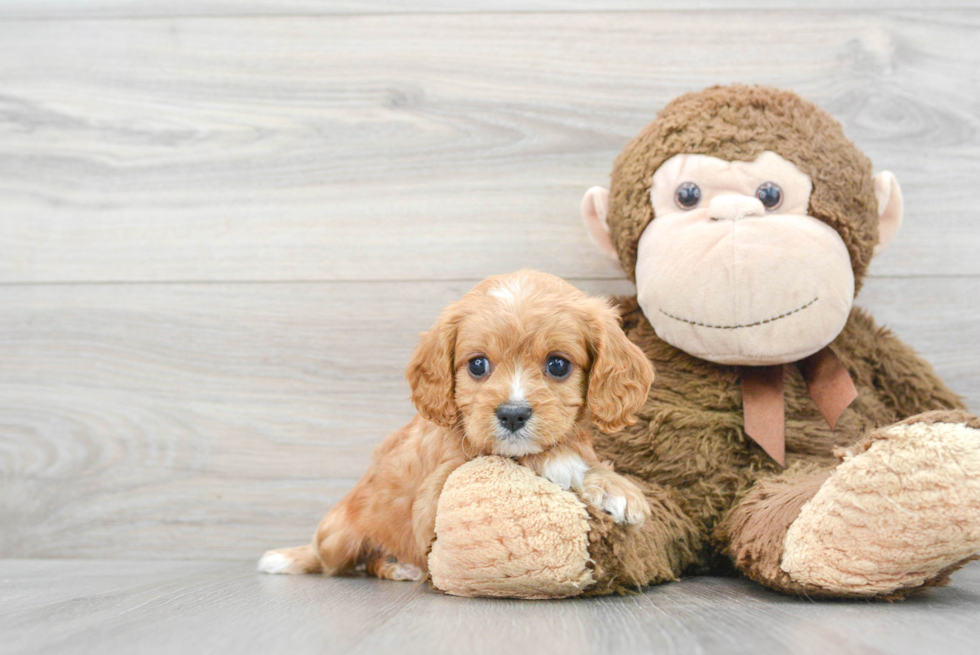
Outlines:
MULTIPOLYGON (((0 556, 247 559, 306 541, 413 415, 416 335, 470 286, 0 286, 0 556)), ((978 292, 862 292, 974 410, 978 292)))

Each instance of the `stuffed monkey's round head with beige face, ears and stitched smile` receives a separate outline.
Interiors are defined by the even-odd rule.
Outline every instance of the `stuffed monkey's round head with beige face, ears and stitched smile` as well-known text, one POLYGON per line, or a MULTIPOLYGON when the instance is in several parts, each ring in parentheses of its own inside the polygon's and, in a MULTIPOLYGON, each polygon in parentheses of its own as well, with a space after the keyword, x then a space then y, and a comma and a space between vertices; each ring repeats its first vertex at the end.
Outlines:
POLYGON ((902 196, 829 114, 789 91, 671 102, 582 213, 657 335, 720 364, 796 361, 843 329, 902 196))

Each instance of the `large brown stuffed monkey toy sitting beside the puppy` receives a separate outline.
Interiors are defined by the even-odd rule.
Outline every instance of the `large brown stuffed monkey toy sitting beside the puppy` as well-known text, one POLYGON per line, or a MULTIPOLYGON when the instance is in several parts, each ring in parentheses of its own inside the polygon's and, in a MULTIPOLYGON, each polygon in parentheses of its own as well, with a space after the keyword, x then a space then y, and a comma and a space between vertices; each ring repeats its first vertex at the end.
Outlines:
POLYGON ((853 306, 902 195, 789 91, 668 104, 583 215, 636 283, 624 329, 657 372, 595 450, 652 517, 614 523, 502 458, 444 487, 432 583, 469 596, 608 594, 730 570, 808 597, 900 599, 980 550, 980 419, 853 306))

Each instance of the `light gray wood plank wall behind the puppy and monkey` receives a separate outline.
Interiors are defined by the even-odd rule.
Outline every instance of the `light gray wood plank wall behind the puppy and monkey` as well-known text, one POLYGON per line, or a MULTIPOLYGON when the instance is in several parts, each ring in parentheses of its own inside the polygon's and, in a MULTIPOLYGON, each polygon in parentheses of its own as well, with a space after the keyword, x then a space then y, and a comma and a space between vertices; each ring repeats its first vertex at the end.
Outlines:
POLYGON ((860 301, 980 410, 980 12, 885 4, 0 5, 0 556, 304 541, 443 305, 520 266, 629 291, 581 194, 715 83, 896 173, 860 301))

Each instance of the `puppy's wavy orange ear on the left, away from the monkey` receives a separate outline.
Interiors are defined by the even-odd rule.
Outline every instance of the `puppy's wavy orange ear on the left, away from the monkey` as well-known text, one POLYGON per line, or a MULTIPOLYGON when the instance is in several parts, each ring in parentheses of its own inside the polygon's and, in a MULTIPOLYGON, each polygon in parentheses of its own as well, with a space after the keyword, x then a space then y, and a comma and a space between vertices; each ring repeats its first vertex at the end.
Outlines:
POLYGON ((450 306, 415 347, 405 377, 412 403, 423 417, 444 428, 456 422, 454 351, 459 315, 450 306))

